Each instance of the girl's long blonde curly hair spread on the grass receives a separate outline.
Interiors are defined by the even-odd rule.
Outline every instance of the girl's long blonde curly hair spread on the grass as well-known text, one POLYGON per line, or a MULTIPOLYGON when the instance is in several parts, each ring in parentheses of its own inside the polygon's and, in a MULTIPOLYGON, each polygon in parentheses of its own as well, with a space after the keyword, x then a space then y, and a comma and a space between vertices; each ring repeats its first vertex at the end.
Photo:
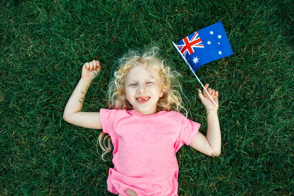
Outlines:
MULTIPOLYGON (((126 99, 124 79, 132 69, 137 68, 138 66, 144 66, 147 71, 157 71, 163 87, 163 96, 157 101, 157 112, 162 110, 181 112, 184 110, 185 112, 183 114, 187 115, 188 111, 184 107, 180 95, 180 92, 182 93, 182 88, 178 81, 178 77, 180 77, 181 74, 176 71, 171 71, 171 68, 166 65, 166 61, 160 60, 157 57, 158 52, 159 49, 157 47, 147 50, 142 55, 140 55, 138 51, 129 50, 129 52, 120 59, 120 66, 117 71, 115 71, 114 78, 109 84, 109 109, 133 109, 133 106, 126 99), (176 89, 179 89, 180 92, 176 89)), ((112 150, 111 138, 109 135, 104 137, 102 145, 101 142, 103 135, 104 133, 101 132, 98 137, 99 145, 104 151, 101 155, 102 160, 104 160, 104 155, 112 150), (107 138, 108 147, 104 144, 107 138)))

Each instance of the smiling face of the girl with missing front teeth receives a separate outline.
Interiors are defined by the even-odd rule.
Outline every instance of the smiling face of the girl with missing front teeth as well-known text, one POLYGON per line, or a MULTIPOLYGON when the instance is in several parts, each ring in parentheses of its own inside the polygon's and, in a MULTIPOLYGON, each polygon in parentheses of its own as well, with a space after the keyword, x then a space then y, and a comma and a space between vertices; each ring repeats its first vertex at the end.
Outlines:
POLYGON ((130 71, 125 77, 126 99, 134 110, 148 115, 156 113, 157 101, 163 96, 158 73, 149 72, 143 66, 130 71))

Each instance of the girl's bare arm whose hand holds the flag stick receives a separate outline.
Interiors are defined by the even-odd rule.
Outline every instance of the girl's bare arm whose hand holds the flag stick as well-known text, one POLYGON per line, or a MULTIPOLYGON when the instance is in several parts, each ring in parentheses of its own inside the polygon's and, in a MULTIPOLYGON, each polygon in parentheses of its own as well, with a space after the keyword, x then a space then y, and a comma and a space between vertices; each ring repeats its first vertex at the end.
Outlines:
MULTIPOLYGON (((207 89, 209 84, 204 87, 207 89)), ((214 89, 207 89, 210 96, 219 104, 219 92, 214 89)), ((210 100, 206 92, 198 90, 199 98, 206 108, 207 115, 207 133, 204 136, 198 132, 193 142, 189 145, 196 150, 209 156, 219 156, 221 154, 221 128, 218 117, 218 107, 210 100)))

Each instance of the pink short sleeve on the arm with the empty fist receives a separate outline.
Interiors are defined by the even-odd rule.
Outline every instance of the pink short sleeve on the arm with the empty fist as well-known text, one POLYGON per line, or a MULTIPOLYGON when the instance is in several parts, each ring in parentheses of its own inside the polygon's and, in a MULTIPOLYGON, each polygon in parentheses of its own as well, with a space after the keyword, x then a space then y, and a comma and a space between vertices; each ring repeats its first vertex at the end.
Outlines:
POLYGON ((117 110, 100 109, 99 119, 104 133, 112 134, 113 124, 116 120, 117 110))

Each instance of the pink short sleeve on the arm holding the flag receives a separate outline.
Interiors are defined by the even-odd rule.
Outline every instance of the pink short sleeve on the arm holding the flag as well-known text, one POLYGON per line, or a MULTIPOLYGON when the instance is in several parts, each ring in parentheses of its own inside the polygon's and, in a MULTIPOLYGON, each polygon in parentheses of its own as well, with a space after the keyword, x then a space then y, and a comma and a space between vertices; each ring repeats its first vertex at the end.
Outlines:
POLYGON ((185 118, 182 122, 181 132, 178 140, 185 145, 190 145, 198 133, 200 124, 185 118))

